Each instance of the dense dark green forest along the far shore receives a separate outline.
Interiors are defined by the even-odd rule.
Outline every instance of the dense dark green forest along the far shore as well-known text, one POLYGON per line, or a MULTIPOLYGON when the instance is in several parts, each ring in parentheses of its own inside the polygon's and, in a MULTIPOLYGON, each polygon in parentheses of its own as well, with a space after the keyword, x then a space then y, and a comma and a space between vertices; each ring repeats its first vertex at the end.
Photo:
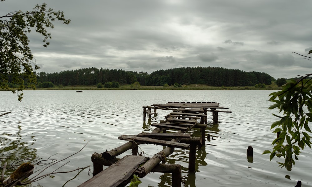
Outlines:
POLYGON ((183 67, 147 72, 84 68, 66 70, 59 73, 36 73, 37 82, 52 82, 54 85, 95 85, 106 82, 132 84, 139 82, 146 86, 163 86, 164 84, 207 84, 209 86, 254 86, 271 84, 274 80, 269 74, 245 72, 221 67, 183 67))

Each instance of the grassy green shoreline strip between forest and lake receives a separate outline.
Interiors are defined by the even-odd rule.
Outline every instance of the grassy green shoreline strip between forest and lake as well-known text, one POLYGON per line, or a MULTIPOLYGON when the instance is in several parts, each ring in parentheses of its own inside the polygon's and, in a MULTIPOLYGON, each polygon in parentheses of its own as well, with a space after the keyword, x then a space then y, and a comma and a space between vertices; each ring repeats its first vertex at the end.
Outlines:
MULTIPOLYGON (((140 86, 140 87, 131 87, 129 84, 120 85, 119 88, 97 88, 94 86, 84 86, 84 85, 75 85, 75 86, 56 86, 54 88, 37 88, 36 90, 281 90, 281 87, 276 85, 267 85, 266 88, 256 88, 254 86, 233 86, 233 87, 216 87, 216 86, 207 86, 207 85, 198 85, 190 84, 183 85, 180 88, 174 88, 173 86, 163 87, 163 86, 140 86)), ((32 90, 32 89, 25 89, 32 90)))

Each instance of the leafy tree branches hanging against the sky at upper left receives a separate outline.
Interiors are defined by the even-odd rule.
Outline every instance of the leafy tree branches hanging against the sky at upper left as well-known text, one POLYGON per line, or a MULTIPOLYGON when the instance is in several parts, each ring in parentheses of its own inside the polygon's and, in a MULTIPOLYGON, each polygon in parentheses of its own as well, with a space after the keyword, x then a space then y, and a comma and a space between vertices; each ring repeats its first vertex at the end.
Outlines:
MULTIPOLYGON (((40 68, 32 62, 34 57, 29 48, 27 33, 35 30, 41 34, 43 47, 47 47, 51 39, 47 28, 54 28, 52 22, 56 20, 64 24, 71 22, 64 17, 63 12, 47 8, 46 3, 36 5, 33 11, 19 10, 0 16, 0 88, 9 89, 9 80, 12 84, 17 84, 19 101, 23 98, 25 83, 31 84, 33 89, 36 88, 34 71, 40 68)), ((13 90, 12 93, 16 91, 13 90)))

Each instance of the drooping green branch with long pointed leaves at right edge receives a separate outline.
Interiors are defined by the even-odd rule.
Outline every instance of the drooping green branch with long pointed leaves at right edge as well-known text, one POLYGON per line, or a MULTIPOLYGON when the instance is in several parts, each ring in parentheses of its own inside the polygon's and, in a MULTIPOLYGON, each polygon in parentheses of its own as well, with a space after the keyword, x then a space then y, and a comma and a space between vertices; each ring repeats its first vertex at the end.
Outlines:
POLYGON ((304 150, 306 146, 311 148, 311 137, 308 134, 312 133, 309 127, 309 122, 312 122, 311 75, 298 75, 302 77, 299 81, 292 80, 290 83, 284 84, 282 90, 270 94, 269 100, 275 104, 269 109, 278 108, 279 113, 283 115, 273 114, 280 120, 273 122, 271 129, 274 129, 273 133, 279 135, 272 142, 273 150, 266 150, 263 154, 270 154, 270 161, 275 156, 284 157, 284 162, 278 163, 280 166, 286 167, 287 170, 291 168, 292 164, 295 165, 295 160, 298 160, 301 150, 304 150))

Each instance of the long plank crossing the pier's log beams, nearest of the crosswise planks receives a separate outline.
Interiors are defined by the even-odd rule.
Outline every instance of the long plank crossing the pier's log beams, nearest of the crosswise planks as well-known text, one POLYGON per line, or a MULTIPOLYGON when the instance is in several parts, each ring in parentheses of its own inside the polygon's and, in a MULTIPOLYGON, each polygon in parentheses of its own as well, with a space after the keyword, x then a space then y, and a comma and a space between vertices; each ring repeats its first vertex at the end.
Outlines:
POLYGON ((182 149, 188 149, 190 146, 186 143, 179 143, 174 141, 165 141, 165 140, 158 140, 148 137, 137 137, 132 135, 121 135, 118 137, 119 140, 126 140, 126 141, 140 141, 140 143, 150 143, 155 145, 161 145, 161 146, 169 146, 169 147, 178 147, 182 149))

